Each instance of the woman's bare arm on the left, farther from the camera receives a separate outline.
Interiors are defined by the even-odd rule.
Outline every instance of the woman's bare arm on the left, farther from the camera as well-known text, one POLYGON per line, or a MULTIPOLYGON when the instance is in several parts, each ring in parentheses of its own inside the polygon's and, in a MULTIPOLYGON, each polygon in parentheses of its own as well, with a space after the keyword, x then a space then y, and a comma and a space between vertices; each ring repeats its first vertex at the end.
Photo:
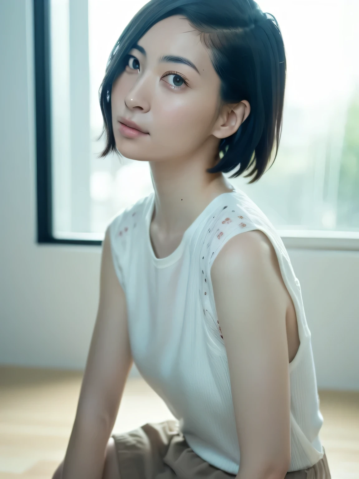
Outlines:
POLYGON ((57 468, 54 477, 101 479, 106 445, 132 363, 126 299, 113 267, 107 229, 102 243, 99 308, 75 422, 62 468, 57 468))

